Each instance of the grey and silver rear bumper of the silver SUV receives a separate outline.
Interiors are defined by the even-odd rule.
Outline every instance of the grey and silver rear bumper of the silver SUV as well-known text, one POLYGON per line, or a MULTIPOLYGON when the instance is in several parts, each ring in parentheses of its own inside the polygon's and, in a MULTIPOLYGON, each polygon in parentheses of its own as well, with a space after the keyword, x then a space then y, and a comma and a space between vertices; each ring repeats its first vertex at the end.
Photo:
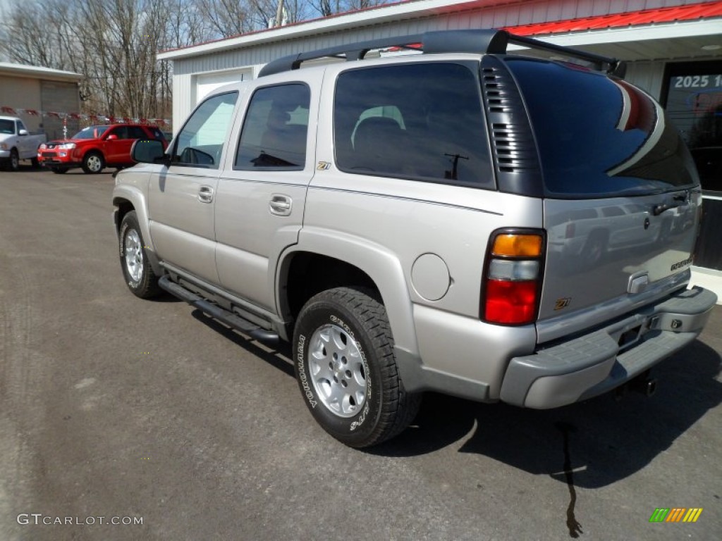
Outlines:
POLYGON ((593 333, 515 357, 500 398, 547 409, 601 395, 695 340, 716 302, 707 289, 677 291, 593 333))

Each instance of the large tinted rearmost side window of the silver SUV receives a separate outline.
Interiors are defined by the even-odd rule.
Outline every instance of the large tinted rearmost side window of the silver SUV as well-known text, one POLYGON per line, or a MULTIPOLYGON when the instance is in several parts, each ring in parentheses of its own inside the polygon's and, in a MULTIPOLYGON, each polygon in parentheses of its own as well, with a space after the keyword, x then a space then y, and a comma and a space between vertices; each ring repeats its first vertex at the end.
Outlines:
POLYGON ((336 82, 334 140, 345 172, 494 187, 479 79, 469 66, 345 71, 336 82))

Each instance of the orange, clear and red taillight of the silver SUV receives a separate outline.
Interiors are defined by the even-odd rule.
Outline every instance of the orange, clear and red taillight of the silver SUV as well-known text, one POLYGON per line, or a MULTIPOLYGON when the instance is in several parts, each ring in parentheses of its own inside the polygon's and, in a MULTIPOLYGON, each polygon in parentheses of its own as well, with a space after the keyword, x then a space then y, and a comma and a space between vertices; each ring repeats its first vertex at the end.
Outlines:
POLYGON ((482 285, 484 321, 524 325, 536 319, 543 256, 543 232, 503 230, 492 235, 482 285))

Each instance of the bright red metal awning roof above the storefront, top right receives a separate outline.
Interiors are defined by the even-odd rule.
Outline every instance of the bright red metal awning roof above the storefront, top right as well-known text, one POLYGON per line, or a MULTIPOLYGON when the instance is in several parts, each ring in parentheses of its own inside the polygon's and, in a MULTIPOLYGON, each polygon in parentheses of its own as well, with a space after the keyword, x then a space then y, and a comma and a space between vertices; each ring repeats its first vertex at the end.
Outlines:
POLYGON ((539 22, 533 25, 507 27, 505 30, 517 35, 557 34, 561 32, 584 32, 586 30, 652 25, 660 22, 695 21, 714 17, 722 17, 722 0, 690 4, 688 6, 644 9, 640 12, 539 22))

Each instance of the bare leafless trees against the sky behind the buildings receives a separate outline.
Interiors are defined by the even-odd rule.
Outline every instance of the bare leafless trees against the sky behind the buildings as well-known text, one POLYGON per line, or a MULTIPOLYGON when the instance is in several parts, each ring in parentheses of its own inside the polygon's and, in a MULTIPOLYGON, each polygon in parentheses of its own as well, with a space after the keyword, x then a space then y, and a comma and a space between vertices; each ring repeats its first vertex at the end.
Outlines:
POLYGON ((159 50, 276 26, 279 12, 290 23, 385 1, 11 0, 0 10, 0 54, 83 74, 82 113, 169 118, 172 73, 159 50))

